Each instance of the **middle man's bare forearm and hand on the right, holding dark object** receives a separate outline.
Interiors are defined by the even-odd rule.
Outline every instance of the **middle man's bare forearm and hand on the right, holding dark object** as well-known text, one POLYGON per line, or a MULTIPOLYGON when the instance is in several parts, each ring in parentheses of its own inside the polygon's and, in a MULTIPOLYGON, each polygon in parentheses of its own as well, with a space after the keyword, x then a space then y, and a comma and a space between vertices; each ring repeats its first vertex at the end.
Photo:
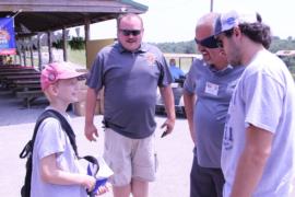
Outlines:
POLYGON ((166 131, 169 134, 173 131, 174 124, 175 124, 175 106, 174 106, 174 95, 173 95, 172 86, 167 85, 167 86, 160 88, 160 92, 163 97, 165 109, 167 113, 167 119, 162 125, 162 128, 166 127, 166 131))

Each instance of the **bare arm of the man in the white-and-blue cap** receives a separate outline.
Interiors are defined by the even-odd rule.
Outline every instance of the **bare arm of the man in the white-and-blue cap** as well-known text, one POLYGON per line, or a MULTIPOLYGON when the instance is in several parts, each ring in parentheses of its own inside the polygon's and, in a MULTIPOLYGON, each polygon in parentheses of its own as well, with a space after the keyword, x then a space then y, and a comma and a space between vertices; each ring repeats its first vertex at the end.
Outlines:
POLYGON ((231 197, 252 196, 271 153, 273 134, 250 125, 246 130, 246 144, 238 160, 231 197))

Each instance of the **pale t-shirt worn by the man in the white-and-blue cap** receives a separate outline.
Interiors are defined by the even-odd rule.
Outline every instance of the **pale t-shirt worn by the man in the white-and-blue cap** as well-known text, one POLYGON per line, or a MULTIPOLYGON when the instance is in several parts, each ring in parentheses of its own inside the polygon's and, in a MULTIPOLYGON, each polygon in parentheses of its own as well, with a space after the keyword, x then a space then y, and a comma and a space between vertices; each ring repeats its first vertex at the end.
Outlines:
POLYGON ((222 149, 224 197, 232 190, 249 124, 273 134, 271 154, 252 196, 288 196, 295 170, 295 86, 286 66, 268 50, 246 67, 231 101, 222 149))

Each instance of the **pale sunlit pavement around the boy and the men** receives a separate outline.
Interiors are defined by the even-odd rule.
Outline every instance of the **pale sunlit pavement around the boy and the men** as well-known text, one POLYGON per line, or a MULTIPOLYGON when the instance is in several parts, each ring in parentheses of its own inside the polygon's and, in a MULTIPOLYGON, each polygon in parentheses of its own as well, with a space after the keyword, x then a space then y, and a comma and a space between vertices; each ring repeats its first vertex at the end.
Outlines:
MULTIPOLYGON (((39 111, 40 112, 40 111, 39 111)), ((9 112, 7 112, 9 114, 9 112)), ((96 116, 101 128, 102 116, 96 116)), ((157 117, 160 125, 163 117, 157 117)), ((0 196, 17 197, 25 173, 25 160, 19 153, 31 138, 34 123, 0 126, 0 196)), ((101 154, 103 151, 103 134, 97 142, 88 142, 83 136, 84 117, 73 117, 73 127, 78 136, 80 154, 101 154)), ((189 171, 192 157, 192 142, 189 139, 186 119, 176 121, 174 134, 160 138, 162 131, 156 130, 156 146, 160 159, 157 181, 151 184, 151 197, 186 197, 189 196, 189 171)), ((110 194, 104 195, 110 197, 110 194)))

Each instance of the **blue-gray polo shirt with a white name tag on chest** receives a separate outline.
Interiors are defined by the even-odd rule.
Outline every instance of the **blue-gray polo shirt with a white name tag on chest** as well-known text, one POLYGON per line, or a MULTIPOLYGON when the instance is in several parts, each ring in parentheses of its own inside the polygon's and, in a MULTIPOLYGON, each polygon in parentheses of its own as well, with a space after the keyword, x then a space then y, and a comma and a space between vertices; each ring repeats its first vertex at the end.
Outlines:
POLYGON ((221 167, 222 138, 227 108, 245 67, 228 66, 216 70, 196 59, 185 81, 185 90, 197 94, 193 124, 197 131, 198 163, 203 167, 221 167))

